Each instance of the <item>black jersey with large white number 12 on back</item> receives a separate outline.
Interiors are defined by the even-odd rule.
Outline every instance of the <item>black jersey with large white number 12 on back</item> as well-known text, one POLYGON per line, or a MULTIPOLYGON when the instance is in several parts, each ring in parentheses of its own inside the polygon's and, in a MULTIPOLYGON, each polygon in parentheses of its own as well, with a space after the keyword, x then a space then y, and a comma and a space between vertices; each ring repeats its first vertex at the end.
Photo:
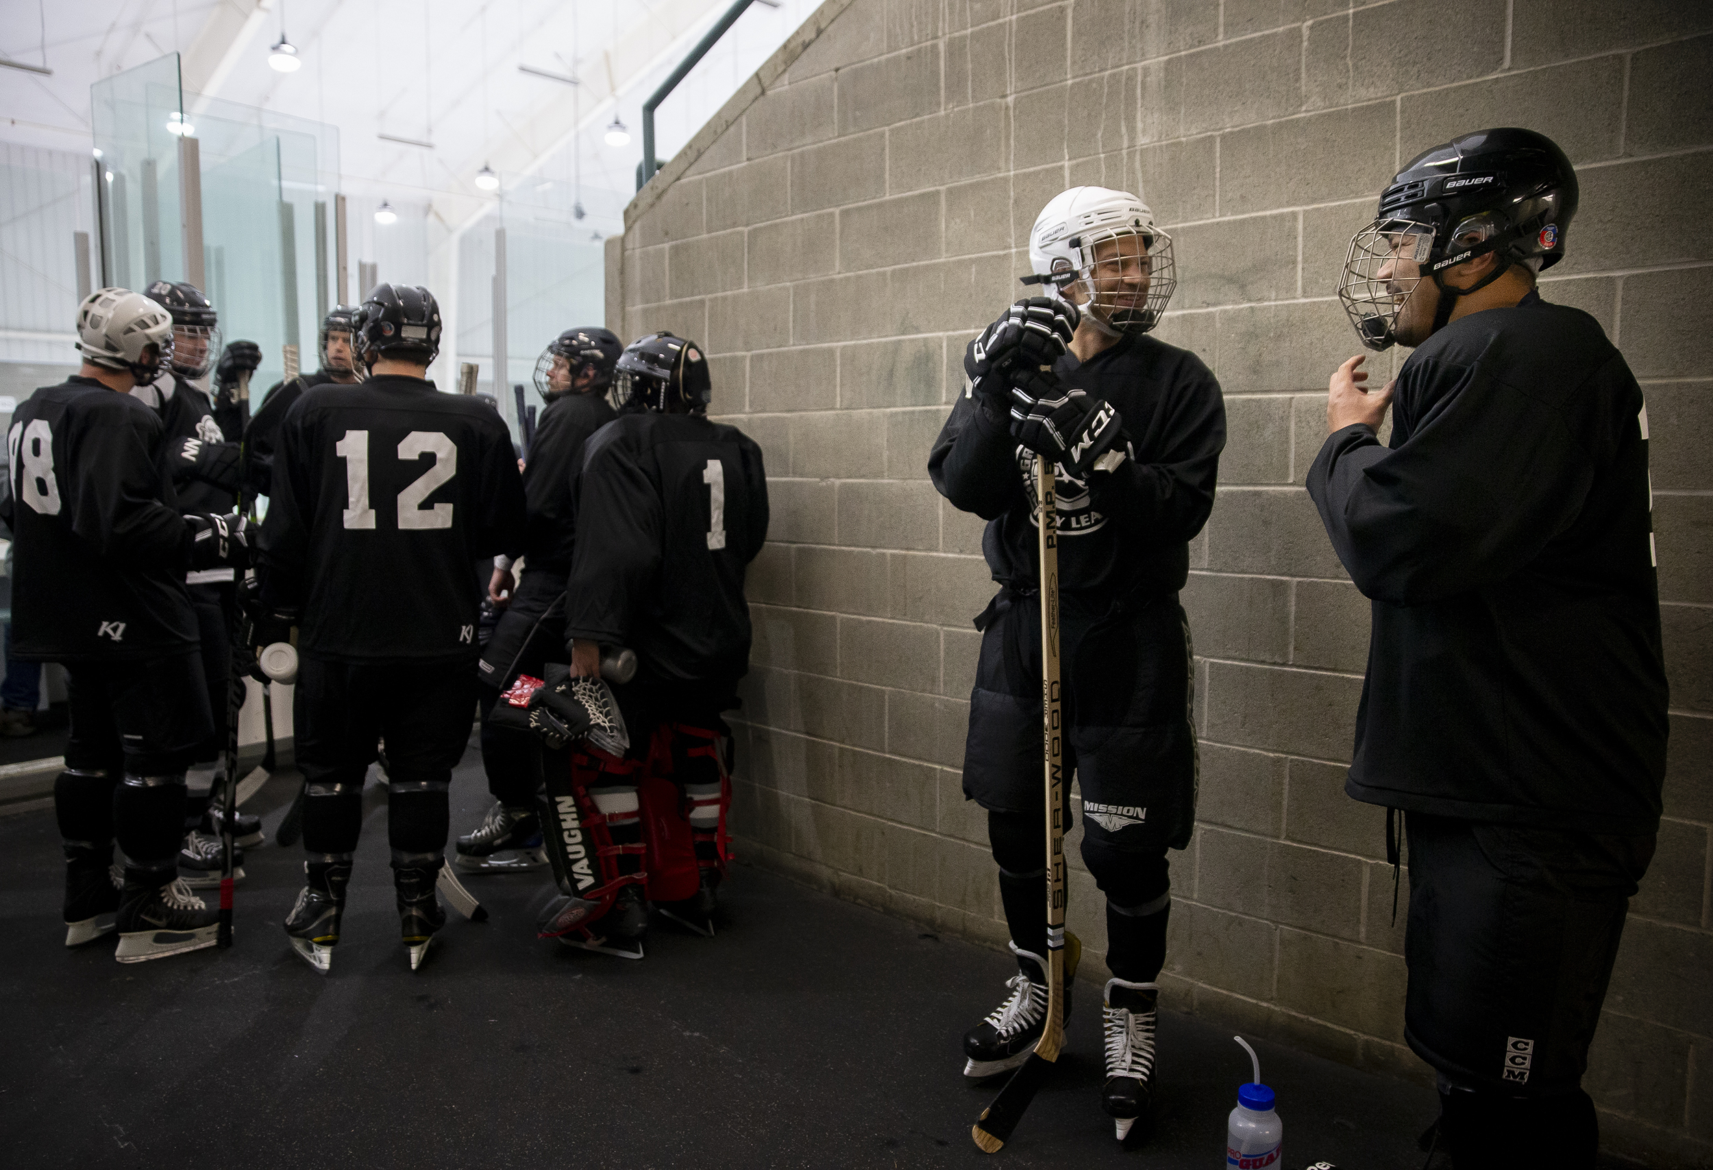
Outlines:
POLYGON ((300 610, 315 658, 475 658, 471 565, 522 524, 512 440, 485 403, 411 377, 319 385, 279 427, 262 598, 300 610))

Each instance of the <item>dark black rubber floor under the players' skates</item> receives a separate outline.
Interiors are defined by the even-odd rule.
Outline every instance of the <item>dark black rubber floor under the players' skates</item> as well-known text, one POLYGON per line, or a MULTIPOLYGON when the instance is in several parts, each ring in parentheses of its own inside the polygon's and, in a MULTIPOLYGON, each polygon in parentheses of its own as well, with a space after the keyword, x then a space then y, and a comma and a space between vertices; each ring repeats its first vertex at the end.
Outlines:
MULTIPOLYGON (((1007 956, 738 865, 714 939, 656 920, 630 963, 538 940, 548 882, 469 879, 423 970, 397 942, 372 788, 332 973, 279 922, 301 851, 272 845, 296 788, 252 802, 269 845, 238 886, 236 942, 140 964, 67 951, 51 812, 0 819, 7 959, 0 1163, 26 1167, 1216 1167, 1249 1060, 1227 1030, 1161 1012, 1160 1107, 1120 1148, 1100 1112, 1100 990, 1076 987, 1067 1054, 999 1155, 970 1125, 997 1089, 959 1035, 1007 956)), ((471 750, 454 834, 486 805, 471 750)), ((1420 1167, 1432 1091, 1256 1042, 1285 1161, 1420 1167)))

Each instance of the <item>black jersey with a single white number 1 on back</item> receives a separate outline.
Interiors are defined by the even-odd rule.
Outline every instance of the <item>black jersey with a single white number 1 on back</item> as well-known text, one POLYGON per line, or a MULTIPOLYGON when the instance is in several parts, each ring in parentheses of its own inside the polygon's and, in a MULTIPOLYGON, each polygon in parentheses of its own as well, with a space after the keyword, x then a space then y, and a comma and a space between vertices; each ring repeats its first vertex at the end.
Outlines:
POLYGON ((656 680, 735 682, 743 572, 766 540, 754 439, 701 415, 624 415, 584 447, 565 637, 629 646, 656 680))

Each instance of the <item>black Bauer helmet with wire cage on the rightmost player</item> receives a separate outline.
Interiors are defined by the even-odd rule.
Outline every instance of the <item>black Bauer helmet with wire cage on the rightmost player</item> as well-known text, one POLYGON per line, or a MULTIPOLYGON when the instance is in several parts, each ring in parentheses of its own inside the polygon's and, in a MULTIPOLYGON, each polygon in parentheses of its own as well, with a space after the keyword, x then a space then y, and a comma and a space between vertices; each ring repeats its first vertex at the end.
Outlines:
POLYGON ((1350 242, 1338 296, 1362 344, 1386 349, 1396 341, 1398 310, 1422 276, 1441 290, 1439 329, 1458 296, 1485 288, 1513 264, 1537 272, 1552 267, 1564 259, 1576 202, 1571 159, 1535 130, 1477 130, 1422 151, 1381 194, 1374 223, 1350 242), (1499 264, 1478 284, 1444 283, 1447 269, 1489 252, 1499 264), (1400 276, 1400 260, 1418 274, 1400 276))

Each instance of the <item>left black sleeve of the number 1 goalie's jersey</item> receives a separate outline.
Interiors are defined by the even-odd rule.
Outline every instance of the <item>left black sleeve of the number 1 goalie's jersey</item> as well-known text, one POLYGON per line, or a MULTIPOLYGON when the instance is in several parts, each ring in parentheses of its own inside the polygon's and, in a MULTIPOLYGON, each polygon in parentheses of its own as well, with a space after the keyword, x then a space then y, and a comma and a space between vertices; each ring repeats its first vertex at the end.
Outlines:
MULTIPOLYGON (((612 439, 610 435, 603 435, 612 439)), ((577 546, 565 584, 565 636, 624 644, 653 598, 665 509, 634 442, 593 442, 577 476, 577 546)))

